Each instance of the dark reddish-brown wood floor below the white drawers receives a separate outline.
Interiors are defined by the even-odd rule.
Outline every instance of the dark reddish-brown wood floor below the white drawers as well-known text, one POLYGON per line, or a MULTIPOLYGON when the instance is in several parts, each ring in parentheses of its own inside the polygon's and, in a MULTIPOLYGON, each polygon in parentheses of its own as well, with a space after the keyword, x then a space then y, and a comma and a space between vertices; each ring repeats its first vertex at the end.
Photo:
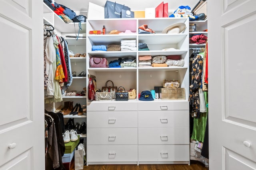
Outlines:
POLYGON ((208 170, 199 161, 191 160, 186 164, 154 164, 154 165, 89 165, 84 170, 208 170))

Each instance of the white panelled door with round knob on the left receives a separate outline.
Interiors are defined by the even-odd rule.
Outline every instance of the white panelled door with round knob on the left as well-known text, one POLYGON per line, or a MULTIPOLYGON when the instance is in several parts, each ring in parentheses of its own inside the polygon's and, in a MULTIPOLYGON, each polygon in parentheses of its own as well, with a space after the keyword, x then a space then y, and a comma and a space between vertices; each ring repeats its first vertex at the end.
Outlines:
POLYGON ((44 170, 42 7, 0 0, 0 170, 44 170))

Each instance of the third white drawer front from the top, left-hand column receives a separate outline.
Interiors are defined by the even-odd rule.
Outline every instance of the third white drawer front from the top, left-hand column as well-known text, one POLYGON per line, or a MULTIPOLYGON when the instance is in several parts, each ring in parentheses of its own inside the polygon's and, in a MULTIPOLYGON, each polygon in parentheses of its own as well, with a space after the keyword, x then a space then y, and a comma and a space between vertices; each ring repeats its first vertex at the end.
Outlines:
POLYGON ((87 128, 88 145, 136 145, 137 128, 87 128))

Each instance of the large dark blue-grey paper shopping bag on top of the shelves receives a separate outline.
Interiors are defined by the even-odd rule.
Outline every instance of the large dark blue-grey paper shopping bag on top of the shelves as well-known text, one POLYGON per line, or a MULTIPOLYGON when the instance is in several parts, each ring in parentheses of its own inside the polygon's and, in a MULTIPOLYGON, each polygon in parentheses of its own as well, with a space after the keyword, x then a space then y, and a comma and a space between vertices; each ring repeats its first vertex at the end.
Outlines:
POLYGON ((128 6, 118 4, 116 2, 106 1, 104 6, 104 17, 105 18, 121 18, 122 10, 131 10, 128 6))

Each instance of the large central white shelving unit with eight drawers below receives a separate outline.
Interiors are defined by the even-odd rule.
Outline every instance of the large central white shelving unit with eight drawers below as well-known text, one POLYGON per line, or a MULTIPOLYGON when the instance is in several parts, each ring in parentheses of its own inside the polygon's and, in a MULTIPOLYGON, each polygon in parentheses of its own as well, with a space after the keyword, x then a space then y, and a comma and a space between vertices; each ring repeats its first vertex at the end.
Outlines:
POLYGON ((88 74, 96 76, 97 88, 101 89, 107 80, 112 80, 114 86, 123 86, 126 90, 135 88, 138 96, 144 90, 163 86, 163 80, 166 79, 179 80, 180 87, 186 91, 185 100, 140 101, 137 98, 125 102, 103 102, 87 99, 87 165, 190 164, 188 25, 188 18, 87 20, 86 68, 88 74), (177 22, 186 24, 184 32, 162 34, 165 27, 177 22), (138 34, 138 27, 143 24, 156 33, 138 34), (88 34, 91 30, 101 30, 103 25, 106 26, 107 35, 88 34), (109 35, 113 29, 121 32, 130 29, 134 34, 109 35), (135 39, 137 47, 138 43, 146 43, 150 51, 91 50, 92 45, 120 45, 123 39, 135 39), (166 48, 174 50, 162 50, 166 48), (185 64, 176 67, 138 67, 138 57, 143 55, 181 55, 185 64), (108 62, 119 57, 134 57, 137 66, 90 68, 89 59, 93 56, 106 57, 108 62))

